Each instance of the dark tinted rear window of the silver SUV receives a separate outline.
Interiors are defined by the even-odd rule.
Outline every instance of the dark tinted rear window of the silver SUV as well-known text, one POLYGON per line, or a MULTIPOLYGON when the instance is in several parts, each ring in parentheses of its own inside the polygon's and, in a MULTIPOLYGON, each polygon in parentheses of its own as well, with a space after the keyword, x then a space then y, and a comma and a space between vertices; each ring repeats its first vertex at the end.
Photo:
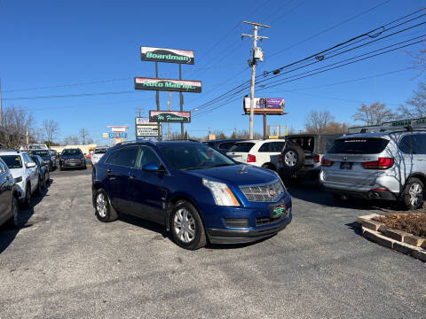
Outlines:
POLYGON ((377 154, 383 152, 389 140, 383 138, 345 138, 335 140, 330 154, 377 154))

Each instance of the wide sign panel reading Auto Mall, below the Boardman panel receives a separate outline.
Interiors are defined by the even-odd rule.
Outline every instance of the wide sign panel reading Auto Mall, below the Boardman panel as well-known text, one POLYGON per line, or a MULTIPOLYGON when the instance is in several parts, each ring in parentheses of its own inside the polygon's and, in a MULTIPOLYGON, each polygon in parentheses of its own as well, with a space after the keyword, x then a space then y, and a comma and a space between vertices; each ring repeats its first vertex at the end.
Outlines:
POLYGON ((135 89, 201 93, 201 81, 135 77, 135 89))

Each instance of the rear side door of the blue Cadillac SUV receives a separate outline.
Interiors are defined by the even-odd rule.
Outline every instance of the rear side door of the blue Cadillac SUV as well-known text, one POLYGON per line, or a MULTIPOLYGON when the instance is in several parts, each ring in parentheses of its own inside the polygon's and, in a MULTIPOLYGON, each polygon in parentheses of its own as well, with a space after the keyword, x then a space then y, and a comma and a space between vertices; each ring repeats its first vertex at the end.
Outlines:
POLYGON ((135 166, 138 146, 123 147, 113 152, 106 161, 105 187, 113 206, 122 213, 129 211, 127 192, 130 167, 135 166))

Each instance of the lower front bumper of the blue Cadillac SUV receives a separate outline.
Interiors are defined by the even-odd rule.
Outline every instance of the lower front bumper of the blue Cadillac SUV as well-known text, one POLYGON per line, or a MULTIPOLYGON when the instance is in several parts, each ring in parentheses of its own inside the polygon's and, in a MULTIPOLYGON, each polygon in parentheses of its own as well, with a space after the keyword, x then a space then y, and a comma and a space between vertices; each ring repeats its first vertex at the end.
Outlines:
POLYGON ((265 237, 271 237, 277 234, 280 230, 284 230, 287 225, 291 222, 291 212, 288 216, 280 221, 278 224, 274 224, 271 227, 255 229, 255 230, 217 230, 207 229, 207 236, 211 244, 242 244, 250 243, 256 240, 263 239, 265 237))

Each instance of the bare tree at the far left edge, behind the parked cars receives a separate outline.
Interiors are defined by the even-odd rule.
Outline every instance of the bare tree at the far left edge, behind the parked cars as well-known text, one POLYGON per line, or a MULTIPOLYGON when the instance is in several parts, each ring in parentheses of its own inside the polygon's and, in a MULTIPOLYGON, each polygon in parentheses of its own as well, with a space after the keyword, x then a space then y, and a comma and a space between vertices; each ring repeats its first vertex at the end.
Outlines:
POLYGON ((2 144, 13 149, 35 140, 33 114, 18 105, 10 105, 3 110, 2 144))

